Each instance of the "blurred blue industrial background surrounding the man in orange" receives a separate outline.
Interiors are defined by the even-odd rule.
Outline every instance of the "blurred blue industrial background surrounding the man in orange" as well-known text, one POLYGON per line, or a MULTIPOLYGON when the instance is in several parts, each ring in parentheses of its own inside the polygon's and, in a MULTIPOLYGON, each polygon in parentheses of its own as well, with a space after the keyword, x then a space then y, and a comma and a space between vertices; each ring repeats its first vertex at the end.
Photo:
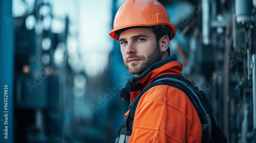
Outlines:
MULTIPOLYGON (((120 89, 133 77, 109 36, 123 2, 0 1, 0 142, 115 141, 130 104, 120 89)), ((177 30, 171 54, 228 142, 256 142, 256 1, 159 2, 177 30)))

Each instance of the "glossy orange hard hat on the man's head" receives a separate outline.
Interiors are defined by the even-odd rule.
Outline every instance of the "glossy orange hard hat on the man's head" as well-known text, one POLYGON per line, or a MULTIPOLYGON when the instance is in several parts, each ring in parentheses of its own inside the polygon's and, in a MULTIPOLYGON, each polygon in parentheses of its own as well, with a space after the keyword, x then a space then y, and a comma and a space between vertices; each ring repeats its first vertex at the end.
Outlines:
POLYGON ((176 33, 168 13, 159 2, 154 0, 126 0, 116 13, 110 36, 118 41, 120 31, 139 27, 167 29, 167 33, 165 33, 169 40, 172 40, 176 33))

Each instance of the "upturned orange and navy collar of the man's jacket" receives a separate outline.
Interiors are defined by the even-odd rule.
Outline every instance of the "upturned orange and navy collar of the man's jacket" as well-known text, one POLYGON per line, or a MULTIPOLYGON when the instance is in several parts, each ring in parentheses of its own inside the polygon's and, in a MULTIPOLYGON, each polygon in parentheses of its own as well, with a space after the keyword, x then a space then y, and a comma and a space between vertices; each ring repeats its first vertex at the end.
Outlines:
POLYGON ((131 92, 131 103, 139 93, 151 84, 152 80, 162 75, 182 76, 182 64, 177 61, 177 56, 173 55, 159 62, 152 64, 139 77, 131 78, 125 85, 125 88, 131 92))

